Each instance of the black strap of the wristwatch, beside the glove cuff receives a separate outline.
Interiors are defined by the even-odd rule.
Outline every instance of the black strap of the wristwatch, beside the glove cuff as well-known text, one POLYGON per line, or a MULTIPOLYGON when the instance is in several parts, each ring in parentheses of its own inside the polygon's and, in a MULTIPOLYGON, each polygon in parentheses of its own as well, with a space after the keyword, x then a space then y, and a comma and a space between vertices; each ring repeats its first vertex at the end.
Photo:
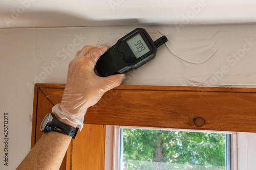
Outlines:
POLYGON ((69 126, 69 125, 63 123, 63 122, 60 122, 56 118, 54 113, 51 113, 51 115, 54 118, 52 119, 53 124, 51 124, 51 130, 50 131, 59 132, 59 133, 65 134, 65 135, 69 135, 69 136, 72 136, 73 139, 75 139, 79 128, 74 128, 72 126, 69 126))

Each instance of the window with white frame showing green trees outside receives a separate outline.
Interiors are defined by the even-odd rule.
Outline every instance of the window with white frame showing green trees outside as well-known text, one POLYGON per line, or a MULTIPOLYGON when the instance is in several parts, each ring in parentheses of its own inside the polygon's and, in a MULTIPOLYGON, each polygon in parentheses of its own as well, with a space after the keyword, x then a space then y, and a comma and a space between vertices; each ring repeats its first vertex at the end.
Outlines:
POLYGON ((230 132, 118 127, 116 135, 115 170, 231 169, 230 132))

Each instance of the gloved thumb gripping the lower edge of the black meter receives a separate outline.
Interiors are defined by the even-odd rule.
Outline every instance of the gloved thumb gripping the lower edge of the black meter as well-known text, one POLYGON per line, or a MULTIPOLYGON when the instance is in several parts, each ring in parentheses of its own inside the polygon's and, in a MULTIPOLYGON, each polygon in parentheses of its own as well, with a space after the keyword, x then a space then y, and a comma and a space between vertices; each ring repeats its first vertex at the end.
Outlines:
POLYGON ((124 79, 125 79, 124 74, 105 77, 104 78, 105 91, 111 90, 112 88, 119 86, 124 79))

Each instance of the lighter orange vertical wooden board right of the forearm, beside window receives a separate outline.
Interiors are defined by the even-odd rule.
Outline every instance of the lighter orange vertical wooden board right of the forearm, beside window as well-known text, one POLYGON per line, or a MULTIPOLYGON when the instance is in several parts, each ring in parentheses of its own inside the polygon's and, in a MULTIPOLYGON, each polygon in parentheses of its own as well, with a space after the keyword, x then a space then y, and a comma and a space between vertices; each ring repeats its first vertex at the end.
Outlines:
POLYGON ((72 169, 104 170, 105 126, 86 124, 72 142, 72 169))

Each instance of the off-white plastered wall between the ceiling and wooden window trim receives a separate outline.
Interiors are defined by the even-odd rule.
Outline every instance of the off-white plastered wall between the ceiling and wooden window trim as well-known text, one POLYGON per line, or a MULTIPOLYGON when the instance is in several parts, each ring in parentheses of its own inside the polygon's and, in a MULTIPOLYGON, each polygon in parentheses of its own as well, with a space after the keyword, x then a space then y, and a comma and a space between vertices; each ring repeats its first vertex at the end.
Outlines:
MULTIPOLYGON (((0 30, 1 138, 3 114, 9 112, 9 166, 3 165, 4 143, 0 142, 0 169, 14 169, 30 151, 33 89, 28 84, 65 83, 68 63, 83 45, 114 44, 135 28, 0 30), (80 35, 86 38, 77 45, 80 35), (69 54, 62 52, 65 49, 69 54), (52 61, 58 66, 45 74, 52 61)), ((165 34, 169 41, 159 47, 155 59, 129 72, 124 84, 256 87, 256 24, 144 28, 154 40, 165 34), (243 57, 230 57, 236 53, 243 57)))

